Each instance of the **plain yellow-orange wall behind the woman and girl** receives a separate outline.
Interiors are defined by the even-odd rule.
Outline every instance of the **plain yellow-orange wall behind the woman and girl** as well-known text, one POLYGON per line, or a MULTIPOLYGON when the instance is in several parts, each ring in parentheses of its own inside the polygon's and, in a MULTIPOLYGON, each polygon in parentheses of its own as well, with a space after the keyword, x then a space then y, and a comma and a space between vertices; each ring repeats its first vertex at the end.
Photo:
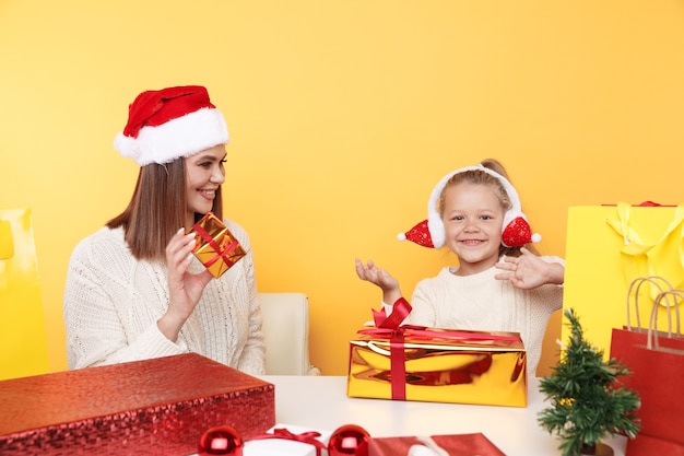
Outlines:
POLYGON ((682 0, 0 0, 0 208, 33 211, 50 371, 71 249, 137 177, 114 136, 176 84, 223 110, 225 211, 260 290, 309 295, 325 374, 378 306, 355 256, 406 295, 453 262, 396 241, 453 168, 502 160, 551 255, 568 206, 684 200, 682 0))

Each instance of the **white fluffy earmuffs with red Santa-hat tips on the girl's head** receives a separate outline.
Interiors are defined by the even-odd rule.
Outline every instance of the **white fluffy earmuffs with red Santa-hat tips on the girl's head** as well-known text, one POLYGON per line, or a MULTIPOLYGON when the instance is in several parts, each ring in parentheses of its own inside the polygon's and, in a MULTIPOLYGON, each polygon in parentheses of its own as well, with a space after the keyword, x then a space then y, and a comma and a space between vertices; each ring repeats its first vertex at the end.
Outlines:
POLYGON ((512 186, 512 184, 510 184, 510 182, 506 177, 487 167, 482 166, 481 164, 475 166, 465 166, 444 176, 433 189, 429 200, 427 201, 427 220, 417 223, 405 233, 400 233, 398 235, 399 239, 409 239, 415 244, 422 245, 423 247, 441 248, 446 242, 446 233, 444 229, 444 221, 441 220, 441 215, 439 214, 437 208, 439 197, 445 186, 447 185, 447 182, 449 182, 451 177, 469 171, 481 171, 495 177, 496 179, 498 179, 498 182, 504 187, 504 190, 506 190, 506 194, 508 195, 508 199, 510 200, 511 206, 504 215, 502 244, 504 244, 506 247, 519 247, 526 244, 538 243, 541 241, 541 235, 536 233, 532 234, 530 223, 522 213, 522 209, 520 207, 520 198, 518 197, 518 192, 516 191, 516 188, 512 186))

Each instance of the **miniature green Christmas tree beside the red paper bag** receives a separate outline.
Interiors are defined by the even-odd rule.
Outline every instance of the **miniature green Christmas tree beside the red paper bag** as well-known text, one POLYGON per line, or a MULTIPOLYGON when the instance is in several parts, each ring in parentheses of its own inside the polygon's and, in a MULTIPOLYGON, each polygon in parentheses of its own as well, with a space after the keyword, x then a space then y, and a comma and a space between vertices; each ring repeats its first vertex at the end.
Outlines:
POLYGON ((563 456, 597 454, 606 434, 634 439, 639 431, 635 416, 639 396, 617 381, 629 371, 614 359, 604 362, 603 351, 585 339, 575 311, 566 309, 564 315, 571 334, 552 374, 540 381, 540 391, 551 407, 540 411, 538 420, 561 439, 563 456))

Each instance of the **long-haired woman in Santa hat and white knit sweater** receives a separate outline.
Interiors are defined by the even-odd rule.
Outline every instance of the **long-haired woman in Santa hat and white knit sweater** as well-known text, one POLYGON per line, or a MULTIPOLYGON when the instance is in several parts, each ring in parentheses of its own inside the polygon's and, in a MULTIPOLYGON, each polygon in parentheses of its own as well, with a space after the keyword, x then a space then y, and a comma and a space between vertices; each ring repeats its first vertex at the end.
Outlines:
POLYGON ((228 131, 202 86, 141 93, 115 148, 141 166, 128 208, 74 248, 64 291, 69 369, 196 352, 264 373, 261 313, 247 255, 213 279, 185 234, 223 219, 228 131))

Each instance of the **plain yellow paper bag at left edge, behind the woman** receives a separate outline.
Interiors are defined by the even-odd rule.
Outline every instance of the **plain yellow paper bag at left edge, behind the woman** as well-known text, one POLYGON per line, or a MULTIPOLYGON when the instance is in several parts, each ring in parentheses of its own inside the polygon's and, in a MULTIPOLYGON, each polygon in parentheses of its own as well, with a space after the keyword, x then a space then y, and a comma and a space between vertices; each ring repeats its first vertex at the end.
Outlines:
POLYGON ((48 372, 28 209, 0 209, 0 381, 48 372))

